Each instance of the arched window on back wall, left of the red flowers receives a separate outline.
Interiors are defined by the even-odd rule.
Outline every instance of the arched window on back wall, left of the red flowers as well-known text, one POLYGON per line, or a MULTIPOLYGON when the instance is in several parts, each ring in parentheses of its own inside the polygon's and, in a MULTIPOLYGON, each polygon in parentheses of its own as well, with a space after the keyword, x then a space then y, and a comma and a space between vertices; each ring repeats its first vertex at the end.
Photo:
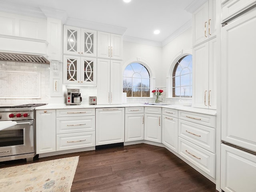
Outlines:
POLYGON ((131 63, 124 69, 123 92, 127 97, 150 97, 150 74, 140 63, 131 63))

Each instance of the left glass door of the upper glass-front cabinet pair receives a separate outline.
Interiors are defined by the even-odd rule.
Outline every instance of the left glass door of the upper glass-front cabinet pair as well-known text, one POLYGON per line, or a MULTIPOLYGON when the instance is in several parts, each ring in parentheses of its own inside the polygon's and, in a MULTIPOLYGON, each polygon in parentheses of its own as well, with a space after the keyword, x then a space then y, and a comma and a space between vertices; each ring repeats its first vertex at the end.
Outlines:
POLYGON ((63 53, 80 55, 81 31, 80 28, 65 26, 63 28, 63 53))

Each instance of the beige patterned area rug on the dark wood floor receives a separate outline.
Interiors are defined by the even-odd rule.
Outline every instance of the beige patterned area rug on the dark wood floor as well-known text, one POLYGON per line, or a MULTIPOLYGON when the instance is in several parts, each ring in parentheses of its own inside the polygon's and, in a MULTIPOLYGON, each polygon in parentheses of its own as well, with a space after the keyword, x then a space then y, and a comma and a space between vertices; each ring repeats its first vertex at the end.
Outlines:
POLYGON ((0 169, 0 192, 70 192, 79 156, 0 169))

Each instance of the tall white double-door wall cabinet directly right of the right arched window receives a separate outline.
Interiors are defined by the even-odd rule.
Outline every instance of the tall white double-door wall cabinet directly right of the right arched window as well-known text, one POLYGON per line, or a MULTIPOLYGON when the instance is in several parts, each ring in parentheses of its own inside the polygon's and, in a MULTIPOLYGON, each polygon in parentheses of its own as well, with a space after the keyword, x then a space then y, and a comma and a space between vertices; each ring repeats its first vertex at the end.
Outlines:
POLYGON ((217 38, 193 48, 192 105, 216 109, 217 38))

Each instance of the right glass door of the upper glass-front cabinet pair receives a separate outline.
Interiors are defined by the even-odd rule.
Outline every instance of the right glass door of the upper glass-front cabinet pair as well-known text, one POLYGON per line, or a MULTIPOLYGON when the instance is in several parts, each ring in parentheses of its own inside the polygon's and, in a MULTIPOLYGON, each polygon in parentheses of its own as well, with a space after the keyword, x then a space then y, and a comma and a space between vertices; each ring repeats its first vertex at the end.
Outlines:
POLYGON ((81 30, 81 56, 97 56, 97 31, 81 30))

